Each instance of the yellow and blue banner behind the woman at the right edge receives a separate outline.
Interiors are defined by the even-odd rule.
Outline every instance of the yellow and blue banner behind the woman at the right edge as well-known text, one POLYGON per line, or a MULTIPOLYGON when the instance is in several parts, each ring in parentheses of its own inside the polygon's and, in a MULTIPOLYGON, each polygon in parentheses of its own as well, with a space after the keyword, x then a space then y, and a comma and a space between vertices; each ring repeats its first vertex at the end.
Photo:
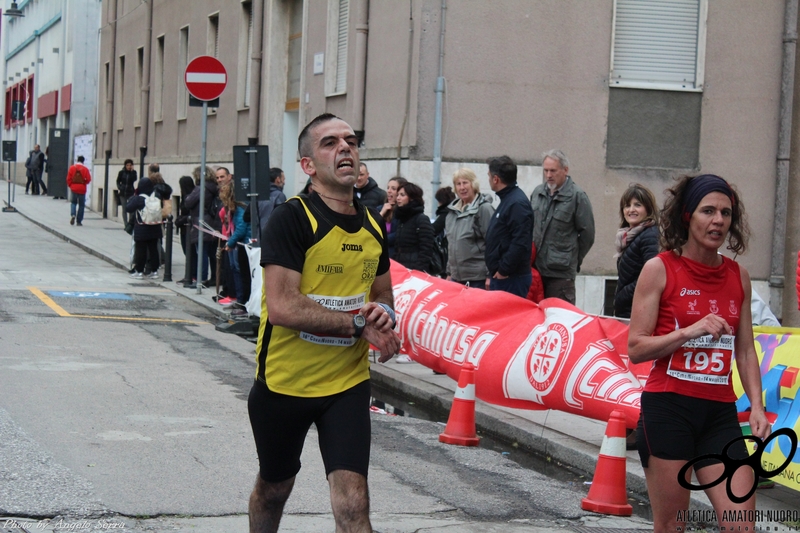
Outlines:
MULTIPOLYGON (((790 428, 800 434, 800 398, 797 390, 800 380, 800 329, 754 327, 756 352, 761 362, 761 387, 764 390, 764 401, 767 411, 776 413, 778 417, 772 424, 772 430, 790 428)), ((735 363, 734 363, 735 366, 735 363)), ((734 369, 733 386, 739 400, 738 411, 750 407, 744 395, 739 373, 734 369)), ((754 451, 750 445, 750 451, 754 451)), ((764 470, 775 470, 792 457, 791 442, 788 437, 773 439, 761 455, 761 467, 764 470)), ((786 469, 772 478, 772 481, 794 490, 800 490, 800 453, 795 453, 786 469)))

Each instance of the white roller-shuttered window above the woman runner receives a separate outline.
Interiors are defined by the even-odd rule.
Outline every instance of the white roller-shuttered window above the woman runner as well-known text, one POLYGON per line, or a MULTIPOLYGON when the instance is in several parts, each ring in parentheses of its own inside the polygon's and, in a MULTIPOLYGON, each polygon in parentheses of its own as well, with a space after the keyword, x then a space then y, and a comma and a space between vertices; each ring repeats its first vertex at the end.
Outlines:
POLYGON ((612 87, 702 91, 708 0, 614 0, 612 87))

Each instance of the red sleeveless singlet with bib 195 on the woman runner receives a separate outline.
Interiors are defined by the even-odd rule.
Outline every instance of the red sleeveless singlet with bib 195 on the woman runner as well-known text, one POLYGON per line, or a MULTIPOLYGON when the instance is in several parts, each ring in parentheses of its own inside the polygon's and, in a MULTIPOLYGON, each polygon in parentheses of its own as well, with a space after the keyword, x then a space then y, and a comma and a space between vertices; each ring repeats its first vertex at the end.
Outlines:
MULTIPOLYGON (((658 254, 667 271, 658 321, 653 335, 688 327, 709 313, 739 329, 744 289, 736 261, 722 256, 722 265, 708 267, 673 252, 658 254)), ((685 343, 653 362, 644 390, 675 392, 695 398, 735 402, 731 379, 734 336, 713 340, 710 335, 685 343)))

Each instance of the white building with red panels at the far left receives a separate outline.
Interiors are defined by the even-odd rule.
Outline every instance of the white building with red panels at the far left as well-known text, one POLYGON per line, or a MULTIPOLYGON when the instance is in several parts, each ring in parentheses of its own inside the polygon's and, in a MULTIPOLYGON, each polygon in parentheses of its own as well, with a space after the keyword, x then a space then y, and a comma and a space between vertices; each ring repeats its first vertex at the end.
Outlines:
POLYGON ((69 129, 70 146, 76 136, 94 135, 101 1, 24 0, 18 9, 22 16, 1 22, 3 140, 17 141, 24 183, 27 153, 36 144, 45 150, 53 129, 69 129))

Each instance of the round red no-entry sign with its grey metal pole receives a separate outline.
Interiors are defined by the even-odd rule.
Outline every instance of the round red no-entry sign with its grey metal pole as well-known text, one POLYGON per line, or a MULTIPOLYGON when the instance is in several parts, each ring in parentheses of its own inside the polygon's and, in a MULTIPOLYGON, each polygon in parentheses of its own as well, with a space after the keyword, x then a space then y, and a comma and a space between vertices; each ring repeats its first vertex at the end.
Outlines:
MULTIPOLYGON (((198 56, 186 65, 183 75, 186 90, 203 102, 203 141, 200 149, 200 214, 198 225, 203 223, 206 199, 206 137, 208 133, 208 102, 219 98, 228 84, 228 72, 219 59, 212 56, 198 56)), ((197 236, 197 294, 203 292, 203 236, 197 236)))

